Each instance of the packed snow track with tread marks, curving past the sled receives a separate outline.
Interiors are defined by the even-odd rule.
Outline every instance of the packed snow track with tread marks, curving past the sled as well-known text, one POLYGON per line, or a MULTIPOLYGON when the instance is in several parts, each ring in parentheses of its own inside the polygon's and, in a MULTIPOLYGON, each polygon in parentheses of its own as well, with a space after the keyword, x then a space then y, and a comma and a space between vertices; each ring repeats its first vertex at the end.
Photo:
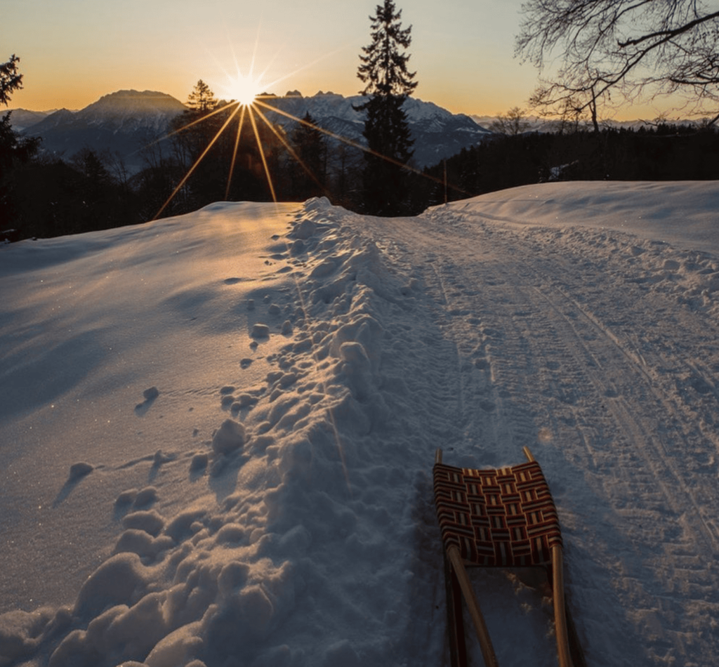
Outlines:
MULTIPOLYGON (((405 270, 444 336, 426 350, 428 372, 446 392, 458 387, 435 406, 450 412, 448 460, 496 466, 516 462, 523 445, 536 450, 567 536, 580 634, 591 635, 592 597, 628 610, 594 621, 615 650, 600 663, 661 664, 672 657, 661 637, 672 635, 686 651, 673 658, 710 664, 719 642, 705 632, 719 613, 719 576, 706 566, 719 554, 716 321, 691 305, 676 318, 677 296, 637 277, 644 250, 596 230, 570 244, 556 230, 436 209, 377 221, 374 236, 409 249, 418 239, 405 270), (595 502, 575 505, 587 489, 595 502)), ((646 257, 661 265, 661 252, 646 257)))

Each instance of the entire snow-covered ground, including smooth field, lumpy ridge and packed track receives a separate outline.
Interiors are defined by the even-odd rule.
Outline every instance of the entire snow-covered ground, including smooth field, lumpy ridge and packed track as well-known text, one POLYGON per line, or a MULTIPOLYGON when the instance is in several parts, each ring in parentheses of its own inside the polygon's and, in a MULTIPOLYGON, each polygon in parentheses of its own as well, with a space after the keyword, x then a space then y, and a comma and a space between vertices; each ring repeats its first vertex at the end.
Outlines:
MULTIPOLYGON (((524 445, 587 664, 714 666, 718 211, 558 183, 0 247, 0 666, 447 665, 434 451, 524 445)), ((554 665, 541 586, 472 576, 500 664, 554 665)))

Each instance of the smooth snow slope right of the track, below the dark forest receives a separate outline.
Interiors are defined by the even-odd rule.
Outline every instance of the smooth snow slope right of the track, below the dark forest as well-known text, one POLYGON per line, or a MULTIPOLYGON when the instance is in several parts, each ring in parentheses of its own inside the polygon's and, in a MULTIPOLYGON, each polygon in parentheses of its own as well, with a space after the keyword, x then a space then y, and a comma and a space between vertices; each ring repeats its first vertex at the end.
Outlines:
POLYGON ((526 185, 449 211, 454 224, 513 229, 540 255, 592 257, 617 285, 651 285, 719 316, 719 188, 711 181, 526 185))

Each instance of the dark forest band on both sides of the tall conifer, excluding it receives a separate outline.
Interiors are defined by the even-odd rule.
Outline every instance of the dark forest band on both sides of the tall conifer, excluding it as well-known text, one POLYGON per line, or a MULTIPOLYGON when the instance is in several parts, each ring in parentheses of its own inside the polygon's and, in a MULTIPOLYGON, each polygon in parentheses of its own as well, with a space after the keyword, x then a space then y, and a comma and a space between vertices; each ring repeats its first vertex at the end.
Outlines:
MULTIPOLYGON (((19 137, 4 121, 0 142, 12 147, 2 151, 4 239, 138 224, 225 200, 304 201, 324 195, 336 205, 367 212, 362 151, 326 137, 312 127, 311 116, 287 136, 263 124, 257 124, 255 136, 245 121, 239 142, 239 119, 233 119, 213 143, 229 111, 192 124, 203 114, 208 111, 180 114, 169 139, 142 149, 145 167, 134 174, 109 151, 86 148, 68 159, 44 155, 42 142, 19 137)), ((530 183, 716 179, 718 158, 719 134, 711 126, 494 134, 438 165, 408 171, 398 214, 416 215, 444 201, 530 183)))

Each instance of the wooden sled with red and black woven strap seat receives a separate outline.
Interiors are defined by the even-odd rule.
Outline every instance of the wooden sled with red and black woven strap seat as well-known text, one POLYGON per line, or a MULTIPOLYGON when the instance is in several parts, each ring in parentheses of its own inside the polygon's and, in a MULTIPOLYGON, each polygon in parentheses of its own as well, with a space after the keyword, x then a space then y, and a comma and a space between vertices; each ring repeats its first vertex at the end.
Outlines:
POLYGON ((434 461, 434 502, 444 545, 449 648, 452 667, 467 664, 462 597, 487 667, 497 667, 492 640, 466 566, 540 567, 552 587, 559 667, 585 667, 584 655, 564 604, 562 533, 557 509, 539 464, 500 469, 455 468, 434 461))

